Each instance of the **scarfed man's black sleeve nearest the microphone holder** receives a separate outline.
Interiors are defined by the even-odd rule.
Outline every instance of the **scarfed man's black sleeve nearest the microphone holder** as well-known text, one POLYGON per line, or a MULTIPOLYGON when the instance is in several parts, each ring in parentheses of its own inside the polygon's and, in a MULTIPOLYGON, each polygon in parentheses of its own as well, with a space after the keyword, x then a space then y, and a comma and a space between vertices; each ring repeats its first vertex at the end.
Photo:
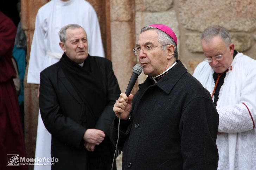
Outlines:
POLYGON ((116 76, 114 75, 112 69, 112 63, 110 61, 107 62, 107 67, 105 69, 107 74, 107 106, 104 108, 100 118, 98 119, 95 128, 101 129, 105 132, 107 136, 109 136, 110 125, 115 118, 115 113, 113 111, 114 104, 118 97, 121 94, 116 76))

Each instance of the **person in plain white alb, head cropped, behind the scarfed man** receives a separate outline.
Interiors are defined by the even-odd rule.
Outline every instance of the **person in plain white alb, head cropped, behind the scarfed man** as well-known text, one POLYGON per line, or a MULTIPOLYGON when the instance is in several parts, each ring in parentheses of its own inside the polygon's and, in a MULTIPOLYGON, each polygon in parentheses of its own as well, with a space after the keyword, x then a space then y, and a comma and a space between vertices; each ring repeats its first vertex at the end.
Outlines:
MULTIPOLYGON (((81 25, 87 32, 88 53, 92 56, 104 57, 97 14, 89 2, 51 0, 38 10, 36 16, 27 83, 40 84, 40 72, 60 60, 63 51, 59 46, 58 32, 60 28, 71 23, 81 25)), ((40 114, 35 158, 51 158, 51 134, 46 130, 40 114)), ((34 169, 48 170, 51 166, 35 165, 34 169)))

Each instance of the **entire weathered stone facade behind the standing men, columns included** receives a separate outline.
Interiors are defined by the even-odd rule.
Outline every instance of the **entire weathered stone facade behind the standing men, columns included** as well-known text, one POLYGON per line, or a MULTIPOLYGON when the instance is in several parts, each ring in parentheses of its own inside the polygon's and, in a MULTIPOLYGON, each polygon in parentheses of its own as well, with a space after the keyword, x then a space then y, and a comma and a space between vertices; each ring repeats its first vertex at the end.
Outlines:
MULTIPOLYGON (((170 26, 178 38, 179 59, 193 73, 204 59, 200 33, 211 25, 226 27, 239 52, 256 58, 256 1, 255 0, 88 0, 95 8, 101 26, 105 54, 124 92, 136 64, 132 49, 140 29, 160 23, 170 26)), ((21 0, 22 22, 28 40, 28 54, 33 37, 37 10, 47 0, 21 0)), ((28 55, 29 56, 29 55, 28 55)), ((27 56, 27 60, 28 57, 27 56)), ((146 75, 139 76, 139 83, 146 75)), ((26 81, 26 80, 25 80, 26 81)), ((37 86, 25 84, 25 125, 28 157, 33 157, 36 140, 38 100, 37 86)), ((133 89, 135 93, 137 86, 133 89)), ((121 157, 118 158, 121 169, 121 157)))

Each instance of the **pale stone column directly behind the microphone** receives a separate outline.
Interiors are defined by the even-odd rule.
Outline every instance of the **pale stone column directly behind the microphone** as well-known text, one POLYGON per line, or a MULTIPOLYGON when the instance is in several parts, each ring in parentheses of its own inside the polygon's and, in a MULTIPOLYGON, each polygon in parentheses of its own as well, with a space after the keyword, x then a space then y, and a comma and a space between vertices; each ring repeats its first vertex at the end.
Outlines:
POLYGON ((111 60, 119 87, 126 90, 136 64, 134 1, 110 0, 111 60))

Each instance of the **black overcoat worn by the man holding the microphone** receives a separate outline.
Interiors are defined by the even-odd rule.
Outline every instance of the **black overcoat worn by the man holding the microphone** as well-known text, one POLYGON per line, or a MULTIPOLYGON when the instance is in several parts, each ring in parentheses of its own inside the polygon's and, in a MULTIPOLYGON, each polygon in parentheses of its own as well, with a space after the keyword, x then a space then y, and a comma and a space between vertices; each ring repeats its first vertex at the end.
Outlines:
MULTIPOLYGON (((122 170, 216 170, 218 113, 181 61, 156 84, 147 77, 121 121, 122 170)), ((117 139, 115 118, 111 138, 117 139)))

